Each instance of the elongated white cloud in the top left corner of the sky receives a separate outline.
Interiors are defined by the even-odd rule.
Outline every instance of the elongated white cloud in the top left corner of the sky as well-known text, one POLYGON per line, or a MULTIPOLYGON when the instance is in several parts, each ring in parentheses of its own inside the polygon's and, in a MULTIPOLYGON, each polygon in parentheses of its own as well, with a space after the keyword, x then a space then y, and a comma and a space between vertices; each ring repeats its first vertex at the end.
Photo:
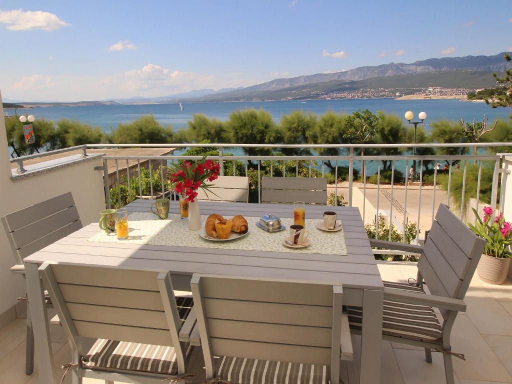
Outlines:
POLYGON ((54 13, 42 11, 24 12, 23 9, 12 11, 0 10, 0 24, 6 24, 6 28, 10 31, 28 31, 31 29, 54 31, 71 25, 59 19, 54 13))

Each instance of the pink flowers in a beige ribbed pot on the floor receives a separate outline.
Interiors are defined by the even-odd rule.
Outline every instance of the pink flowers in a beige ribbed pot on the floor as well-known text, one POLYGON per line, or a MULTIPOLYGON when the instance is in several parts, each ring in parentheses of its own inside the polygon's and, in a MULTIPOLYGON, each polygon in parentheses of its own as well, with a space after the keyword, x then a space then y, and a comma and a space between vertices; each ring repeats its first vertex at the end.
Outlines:
POLYGON ((476 223, 468 226, 482 239, 487 241, 482 258, 478 263, 478 276, 489 284, 503 284, 510 266, 510 244, 512 244, 512 225, 505 221, 503 213, 492 216, 493 208, 483 208, 483 219, 480 219, 475 208, 476 223))

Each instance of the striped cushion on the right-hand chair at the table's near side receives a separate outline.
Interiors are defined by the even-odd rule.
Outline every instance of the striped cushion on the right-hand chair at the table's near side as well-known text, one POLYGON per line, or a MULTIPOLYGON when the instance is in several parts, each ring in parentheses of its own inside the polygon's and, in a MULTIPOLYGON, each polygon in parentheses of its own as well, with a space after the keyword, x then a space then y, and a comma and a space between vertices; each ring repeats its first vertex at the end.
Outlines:
POLYGON ((294 362, 221 356, 215 372, 231 384, 328 384, 330 368, 294 362))

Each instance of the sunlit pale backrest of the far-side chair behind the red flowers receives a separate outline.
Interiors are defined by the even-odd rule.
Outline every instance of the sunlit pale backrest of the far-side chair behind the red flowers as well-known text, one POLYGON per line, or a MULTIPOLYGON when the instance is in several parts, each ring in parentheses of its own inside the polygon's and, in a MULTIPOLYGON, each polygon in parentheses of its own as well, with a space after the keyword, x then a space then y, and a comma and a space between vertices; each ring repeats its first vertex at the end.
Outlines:
POLYGON ((249 201, 249 178, 243 176, 219 176, 215 181, 208 184, 214 184, 205 191, 203 188, 198 190, 199 200, 211 201, 231 201, 247 203, 249 201))

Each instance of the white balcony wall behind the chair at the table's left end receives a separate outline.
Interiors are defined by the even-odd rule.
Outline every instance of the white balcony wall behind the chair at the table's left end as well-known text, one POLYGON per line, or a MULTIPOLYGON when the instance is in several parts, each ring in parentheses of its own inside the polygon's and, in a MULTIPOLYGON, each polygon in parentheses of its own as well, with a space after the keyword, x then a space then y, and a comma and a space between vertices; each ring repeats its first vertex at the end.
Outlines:
MULTIPOLYGON (((35 111, 33 114, 37 118, 35 111)), ((0 217, 71 191, 82 224, 97 221, 99 211, 105 209, 102 172, 94 170, 102 165, 101 157, 13 181, 1 94, 0 116, 0 217)), ((25 292, 23 278, 9 270, 14 264, 16 258, 0 226, 0 314, 16 304, 16 298, 25 292)))

